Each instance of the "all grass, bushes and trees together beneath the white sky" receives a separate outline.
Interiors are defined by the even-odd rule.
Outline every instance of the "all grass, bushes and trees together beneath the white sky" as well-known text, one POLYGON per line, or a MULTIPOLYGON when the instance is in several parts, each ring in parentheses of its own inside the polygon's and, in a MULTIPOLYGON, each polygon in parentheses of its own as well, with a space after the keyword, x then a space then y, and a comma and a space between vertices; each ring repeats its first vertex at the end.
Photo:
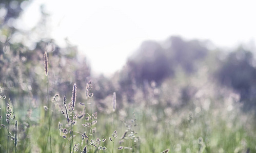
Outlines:
MULTIPOLYGON (((0 2, 0 153, 256 152, 249 50, 223 56, 172 36, 144 42, 112 77, 92 76, 68 40, 12 41, 22 32, 7 22, 24 1, 14 14, 11 2, 0 2)), ((43 21, 42 11, 32 34, 43 21)))

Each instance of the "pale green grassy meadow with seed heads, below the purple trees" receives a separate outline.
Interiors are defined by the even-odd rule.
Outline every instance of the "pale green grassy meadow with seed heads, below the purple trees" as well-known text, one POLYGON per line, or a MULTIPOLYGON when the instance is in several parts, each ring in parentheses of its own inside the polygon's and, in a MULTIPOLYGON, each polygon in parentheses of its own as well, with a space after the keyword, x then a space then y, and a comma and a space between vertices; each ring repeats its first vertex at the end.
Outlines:
POLYGON ((37 98, 10 99, 0 83, 0 152, 256 152, 254 113, 242 111, 239 95, 204 69, 189 77, 181 71, 160 86, 145 83, 132 103, 122 87, 116 97, 95 100, 93 81, 86 91, 74 82, 60 94, 48 70, 37 98))

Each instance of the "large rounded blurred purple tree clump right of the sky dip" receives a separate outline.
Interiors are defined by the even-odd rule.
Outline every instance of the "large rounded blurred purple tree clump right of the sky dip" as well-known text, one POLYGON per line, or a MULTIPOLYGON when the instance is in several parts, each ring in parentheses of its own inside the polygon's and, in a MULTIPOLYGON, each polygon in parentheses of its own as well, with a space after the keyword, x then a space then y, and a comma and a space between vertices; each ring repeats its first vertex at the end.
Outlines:
POLYGON ((206 45, 198 40, 185 41, 173 36, 164 43, 145 41, 128 59, 120 75, 120 85, 130 97, 134 94, 134 82, 142 88, 145 81, 160 85, 164 79, 173 77, 179 66, 187 74, 195 72, 195 64, 203 61, 207 54, 206 45))

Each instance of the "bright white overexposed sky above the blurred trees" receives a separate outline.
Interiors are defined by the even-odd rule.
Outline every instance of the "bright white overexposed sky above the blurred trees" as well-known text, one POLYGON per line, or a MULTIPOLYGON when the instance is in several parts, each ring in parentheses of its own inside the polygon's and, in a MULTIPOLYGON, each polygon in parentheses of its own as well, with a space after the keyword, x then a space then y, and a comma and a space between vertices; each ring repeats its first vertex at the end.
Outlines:
POLYGON ((41 4, 51 14, 51 36, 61 45, 68 37, 96 73, 121 69, 144 40, 180 35, 232 47, 256 36, 256 2, 251 0, 34 0, 23 15, 28 29, 38 21, 41 4))

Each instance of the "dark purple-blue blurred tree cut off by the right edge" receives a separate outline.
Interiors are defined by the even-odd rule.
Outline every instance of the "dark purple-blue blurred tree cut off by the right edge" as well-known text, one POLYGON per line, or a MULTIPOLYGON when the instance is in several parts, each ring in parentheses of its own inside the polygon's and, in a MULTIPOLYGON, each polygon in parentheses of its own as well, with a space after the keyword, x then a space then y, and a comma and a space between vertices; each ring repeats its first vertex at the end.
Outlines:
POLYGON ((221 68, 216 72, 222 85, 238 91, 245 108, 256 106, 256 69, 255 60, 248 50, 239 47, 231 52, 223 61, 221 68))

